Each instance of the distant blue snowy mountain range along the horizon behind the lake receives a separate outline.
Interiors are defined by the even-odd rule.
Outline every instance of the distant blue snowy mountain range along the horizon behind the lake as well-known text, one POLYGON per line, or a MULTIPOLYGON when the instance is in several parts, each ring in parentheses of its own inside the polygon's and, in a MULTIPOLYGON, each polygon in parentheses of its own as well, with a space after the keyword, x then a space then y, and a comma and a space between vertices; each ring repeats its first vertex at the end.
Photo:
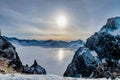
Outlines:
POLYGON ((44 48, 71 48, 73 50, 78 49, 84 45, 82 40, 76 41, 56 41, 56 40, 24 40, 18 38, 9 38, 3 36, 6 40, 13 44, 19 44, 22 46, 40 46, 44 48))

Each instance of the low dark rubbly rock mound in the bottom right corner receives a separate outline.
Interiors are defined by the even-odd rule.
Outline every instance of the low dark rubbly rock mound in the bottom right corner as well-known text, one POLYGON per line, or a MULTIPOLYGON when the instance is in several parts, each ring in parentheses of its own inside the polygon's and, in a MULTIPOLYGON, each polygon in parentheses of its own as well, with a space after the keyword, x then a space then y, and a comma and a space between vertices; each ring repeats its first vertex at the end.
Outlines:
POLYGON ((114 61, 107 60, 105 63, 99 64, 93 77, 95 78, 116 78, 120 77, 120 69, 114 61))

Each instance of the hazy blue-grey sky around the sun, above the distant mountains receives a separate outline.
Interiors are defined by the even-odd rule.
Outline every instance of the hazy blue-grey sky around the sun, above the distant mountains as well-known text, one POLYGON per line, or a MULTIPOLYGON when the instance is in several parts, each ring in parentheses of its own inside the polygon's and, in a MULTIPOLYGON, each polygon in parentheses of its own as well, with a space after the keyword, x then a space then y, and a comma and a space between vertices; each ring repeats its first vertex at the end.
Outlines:
POLYGON ((0 28, 9 37, 85 40, 115 16, 120 0, 0 0, 0 28), (61 15, 64 28, 56 24, 61 15))

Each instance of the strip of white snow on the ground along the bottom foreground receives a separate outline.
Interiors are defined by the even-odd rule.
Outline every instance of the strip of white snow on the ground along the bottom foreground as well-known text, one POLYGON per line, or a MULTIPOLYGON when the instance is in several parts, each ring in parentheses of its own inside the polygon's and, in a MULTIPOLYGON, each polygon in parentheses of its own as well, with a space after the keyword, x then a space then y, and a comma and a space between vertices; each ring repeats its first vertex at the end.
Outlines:
MULTIPOLYGON (((70 78, 70 77, 66 78, 49 74, 47 75, 0 74, 0 80, 98 80, 98 79, 70 78)), ((108 79, 101 78, 99 80, 108 79)))

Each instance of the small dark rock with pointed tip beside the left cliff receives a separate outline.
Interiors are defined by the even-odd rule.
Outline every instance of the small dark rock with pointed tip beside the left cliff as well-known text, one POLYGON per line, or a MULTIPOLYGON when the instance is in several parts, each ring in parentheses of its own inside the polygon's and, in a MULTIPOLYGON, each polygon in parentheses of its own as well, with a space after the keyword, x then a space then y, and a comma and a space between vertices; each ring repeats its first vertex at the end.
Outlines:
POLYGON ((31 67, 28 67, 28 65, 26 65, 24 67, 24 71, 28 74, 46 74, 45 69, 38 65, 36 60, 34 61, 34 64, 31 67))

